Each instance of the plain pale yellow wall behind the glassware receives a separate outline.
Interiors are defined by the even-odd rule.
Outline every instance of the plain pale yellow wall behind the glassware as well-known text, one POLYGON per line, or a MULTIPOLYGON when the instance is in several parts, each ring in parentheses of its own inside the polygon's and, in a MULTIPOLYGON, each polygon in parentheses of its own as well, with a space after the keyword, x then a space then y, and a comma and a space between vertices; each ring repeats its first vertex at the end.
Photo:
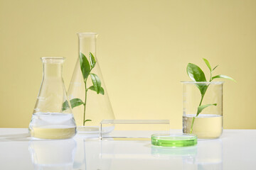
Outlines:
POLYGON ((97 32, 97 59, 116 118, 171 119, 181 128, 186 64, 238 81, 224 86, 224 128, 256 128, 256 1, 0 0, 0 128, 26 128, 42 79, 40 57, 67 57, 78 32, 97 32))

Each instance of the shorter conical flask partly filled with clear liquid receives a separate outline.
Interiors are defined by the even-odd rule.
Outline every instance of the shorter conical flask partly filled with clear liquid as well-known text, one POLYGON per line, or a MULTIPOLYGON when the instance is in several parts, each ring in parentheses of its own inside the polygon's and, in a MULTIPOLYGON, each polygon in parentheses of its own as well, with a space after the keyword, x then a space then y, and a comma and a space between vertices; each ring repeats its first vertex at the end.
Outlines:
POLYGON ((67 139, 76 125, 62 77, 63 57, 42 57, 43 80, 28 130, 31 137, 67 139))

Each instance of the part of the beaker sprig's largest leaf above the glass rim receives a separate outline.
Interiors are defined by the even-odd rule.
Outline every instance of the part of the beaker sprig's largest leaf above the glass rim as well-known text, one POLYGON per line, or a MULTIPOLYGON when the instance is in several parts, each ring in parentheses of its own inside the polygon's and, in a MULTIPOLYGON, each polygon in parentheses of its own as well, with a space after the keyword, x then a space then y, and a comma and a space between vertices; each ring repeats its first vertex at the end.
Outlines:
POLYGON ((188 63, 187 73, 188 77, 190 77, 193 81, 206 81, 205 74, 196 64, 188 63))

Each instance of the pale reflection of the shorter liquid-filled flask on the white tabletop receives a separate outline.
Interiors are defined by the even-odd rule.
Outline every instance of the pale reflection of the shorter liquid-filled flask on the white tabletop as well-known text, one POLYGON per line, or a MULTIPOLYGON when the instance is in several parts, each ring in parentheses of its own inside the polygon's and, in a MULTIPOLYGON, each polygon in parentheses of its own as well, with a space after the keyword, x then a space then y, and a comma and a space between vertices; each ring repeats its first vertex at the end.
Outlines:
POLYGON ((76 142, 70 140, 31 140, 28 145, 35 170, 71 170, 76 142))

